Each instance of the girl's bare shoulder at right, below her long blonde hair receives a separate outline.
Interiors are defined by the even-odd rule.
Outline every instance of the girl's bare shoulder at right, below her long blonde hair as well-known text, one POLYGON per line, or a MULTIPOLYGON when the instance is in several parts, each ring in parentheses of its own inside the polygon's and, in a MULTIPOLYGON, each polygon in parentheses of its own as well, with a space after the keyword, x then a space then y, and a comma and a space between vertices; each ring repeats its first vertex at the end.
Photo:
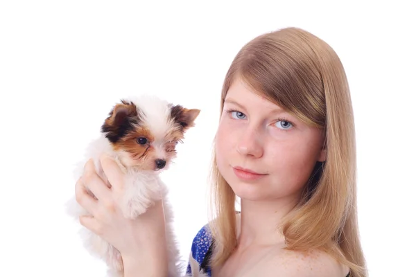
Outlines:
POLYGON ((284 276, 307 277, 346 277, 349 269, 336 261, 324 251, 311 250, 308 252, 287 251, 280 252, 275 263, 284 276))

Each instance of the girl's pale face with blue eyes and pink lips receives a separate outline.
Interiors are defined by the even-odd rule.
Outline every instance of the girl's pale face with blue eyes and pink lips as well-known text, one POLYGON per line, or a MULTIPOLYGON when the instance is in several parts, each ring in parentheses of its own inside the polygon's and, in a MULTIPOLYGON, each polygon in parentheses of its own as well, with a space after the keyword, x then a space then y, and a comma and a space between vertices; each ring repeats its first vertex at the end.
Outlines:
POLYGON ((324 132, 309 127, 236 80, 216 134, 218 170, 241 199, 299 197, 317 161, 324 132))

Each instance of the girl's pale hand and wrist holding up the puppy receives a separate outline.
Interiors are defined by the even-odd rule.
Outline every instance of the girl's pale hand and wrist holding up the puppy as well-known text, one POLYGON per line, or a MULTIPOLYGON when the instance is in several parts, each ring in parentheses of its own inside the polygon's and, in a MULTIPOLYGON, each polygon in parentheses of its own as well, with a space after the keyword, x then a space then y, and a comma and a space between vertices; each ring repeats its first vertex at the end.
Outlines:
POLYGON ((94 161, 89 160, 83 176, 76 183, 76 200, 91 216, 81 216, 80 224, 118 249, 123 260, 146 259, 142 257, 146 252, 149 259, 149 253, 164 256, 166 251, 160 249, 161 244, 166 247, 162 201, 150 206, 137 219, 126 219, 117 201, 123 195, 125 175, 112 158, 103 156, 100 161, 111 188, 97 175, 94 161), (97 199, 85 188, 89 188, 97 199))

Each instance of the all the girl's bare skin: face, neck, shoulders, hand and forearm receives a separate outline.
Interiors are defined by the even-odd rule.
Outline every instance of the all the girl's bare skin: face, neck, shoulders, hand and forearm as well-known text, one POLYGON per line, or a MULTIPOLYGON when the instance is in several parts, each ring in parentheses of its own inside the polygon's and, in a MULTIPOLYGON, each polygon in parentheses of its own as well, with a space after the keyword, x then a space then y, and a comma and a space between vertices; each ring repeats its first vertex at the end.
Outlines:
MULTIPOLYGON (((299 201, 302 188, 316 161, 324 161, 324 134, 304 125, 291 114, 277 112, 277 105, 255 93, 241 80, 230 87, 216 136, 218 169, 241 197, 241 233, 236 251, 213 276, 320 276, 345 277, 348 269, 321 251, 284 250, 284 236, 277 231, 299 201), (227 112, 227 110, 239 112, 227 112), (279 118, 285 118, 279 120, 279 118), (288 123, 287 121, 290 121, 288 123), (255 181, 236 176, 241 166, 263 174, 255 181)), ((86 228, 114 245, 123 257, 125 277, 148 270, 144 276, 166 276, 164 215, 157 203, 137 220, 125 220, 116 199, 123 192, 123 173, 103 157, 107 188, 87 163, 76 184, 77 201, 93 217, 81 217, 86 228), (83 189, 97 195, 93 199, 83 189), (139 251, 140 250, 140 251, 139 251), (143 254, 145 253, 145 255, 143 254)))

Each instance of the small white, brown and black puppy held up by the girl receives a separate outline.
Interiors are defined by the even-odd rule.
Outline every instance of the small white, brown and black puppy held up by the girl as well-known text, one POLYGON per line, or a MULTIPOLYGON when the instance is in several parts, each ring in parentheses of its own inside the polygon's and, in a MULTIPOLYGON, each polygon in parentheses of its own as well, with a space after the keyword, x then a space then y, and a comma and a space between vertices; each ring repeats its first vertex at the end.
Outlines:
MULTIPOLYGON (((155 201, 163 199, 169 249, 168 276, 180 276, 180 251, 173 235, 173 212, 166 200, 168 190, 159 173, 167 170, 175 159, 177 143, 182 143, 184 133, 194 126, 199 113, 199 109, 186 109, 155 96, 124 98, 103 118, 98 138, 89 143, 85 157, 75 170, 78 180, 85 163, 93 159, 96 172, 110 187, 99 159, 103 154, 112 157, 125 173, 125 193, 119 206, 126 218, 134 219, 155 201)), ((75 197, 67 203, 67 212, 77 221, 80 215, 87 215, 75 197)), ((107 276, 123 276, 119 251, 91 231, 82 228, 81 232, 87 251, 107 265, 107 276)))

